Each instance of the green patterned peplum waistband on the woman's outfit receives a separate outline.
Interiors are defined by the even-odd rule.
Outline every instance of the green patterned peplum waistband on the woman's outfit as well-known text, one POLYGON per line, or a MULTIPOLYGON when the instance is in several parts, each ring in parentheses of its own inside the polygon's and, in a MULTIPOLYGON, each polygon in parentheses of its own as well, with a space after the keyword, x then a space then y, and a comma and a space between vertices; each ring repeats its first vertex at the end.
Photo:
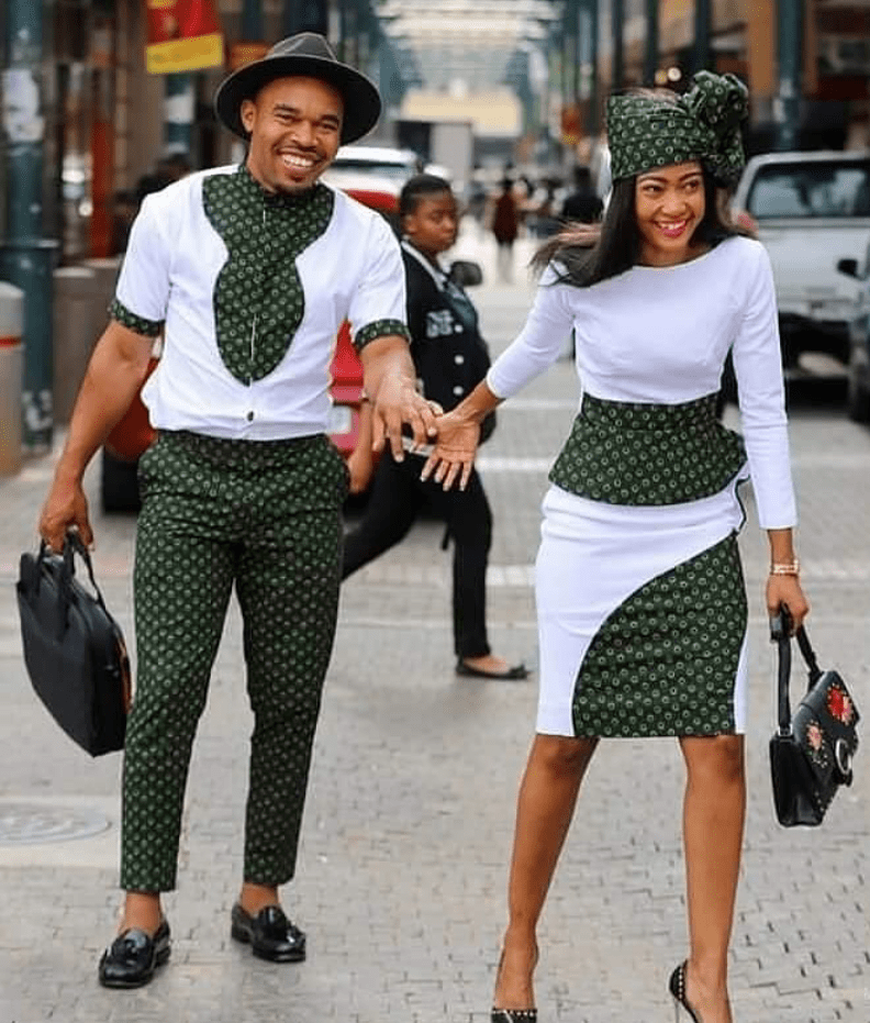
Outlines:
POLYGON ((746 453, 715 407, 715 394, 676 405, 584 394, 550 481, 606 504, 680 504, 717 493, 746 453))

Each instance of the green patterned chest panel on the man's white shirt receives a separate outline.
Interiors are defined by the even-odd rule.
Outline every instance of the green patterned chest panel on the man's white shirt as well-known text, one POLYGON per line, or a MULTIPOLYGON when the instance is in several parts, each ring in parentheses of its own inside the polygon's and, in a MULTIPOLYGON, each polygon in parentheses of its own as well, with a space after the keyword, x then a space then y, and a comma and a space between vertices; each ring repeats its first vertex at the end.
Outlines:
POLYGON ((295 259, 326 230, 334 194, 270 194, 247 168, 207 177, 205 215, 228 249, 214 288, 217 348, 243 383, 268 376, 302 322, 305 296, 295 259))

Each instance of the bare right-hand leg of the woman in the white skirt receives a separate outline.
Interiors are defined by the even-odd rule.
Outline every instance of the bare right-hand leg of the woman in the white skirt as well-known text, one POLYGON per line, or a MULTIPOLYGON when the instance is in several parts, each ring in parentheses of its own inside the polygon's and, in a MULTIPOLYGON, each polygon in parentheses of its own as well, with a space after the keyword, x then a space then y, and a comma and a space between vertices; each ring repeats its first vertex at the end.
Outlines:
POLYGON ((685 994, 704 1023, 732 1023, 727 968, 746 810, 744 737, 684 737, 680 745, 688 770, 683 807, 690 939, 685 994))

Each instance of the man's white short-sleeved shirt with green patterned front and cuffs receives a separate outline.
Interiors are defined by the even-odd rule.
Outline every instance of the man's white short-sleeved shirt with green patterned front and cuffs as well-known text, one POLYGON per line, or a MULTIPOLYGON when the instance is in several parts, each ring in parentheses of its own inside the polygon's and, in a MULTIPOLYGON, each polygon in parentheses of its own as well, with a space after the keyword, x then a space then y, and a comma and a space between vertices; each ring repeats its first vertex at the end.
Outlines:
POLYGON ((158 430, 250 441, 326 430, 335 337, 408 336, 404 270, 387 222, 317 184, 266 192, 242 166, 148 196, 112 316, 163 333, 143 400, 158 430))

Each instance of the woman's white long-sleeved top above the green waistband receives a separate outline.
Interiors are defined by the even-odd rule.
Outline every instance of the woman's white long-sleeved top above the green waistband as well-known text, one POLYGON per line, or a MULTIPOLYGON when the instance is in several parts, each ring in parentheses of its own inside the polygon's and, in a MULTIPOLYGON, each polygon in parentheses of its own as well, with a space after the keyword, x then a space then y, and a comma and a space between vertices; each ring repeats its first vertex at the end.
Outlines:
POLYGON ((679 404, 718 390, 733 353, 749 474, 763 529, 796 522, 776 294, 763 246, 733 237, 671 267, 635 266, 589 288, 553 268, 516 340, 487 375, 509 398, 556 360, 575 332, 582 394, 679 404))

